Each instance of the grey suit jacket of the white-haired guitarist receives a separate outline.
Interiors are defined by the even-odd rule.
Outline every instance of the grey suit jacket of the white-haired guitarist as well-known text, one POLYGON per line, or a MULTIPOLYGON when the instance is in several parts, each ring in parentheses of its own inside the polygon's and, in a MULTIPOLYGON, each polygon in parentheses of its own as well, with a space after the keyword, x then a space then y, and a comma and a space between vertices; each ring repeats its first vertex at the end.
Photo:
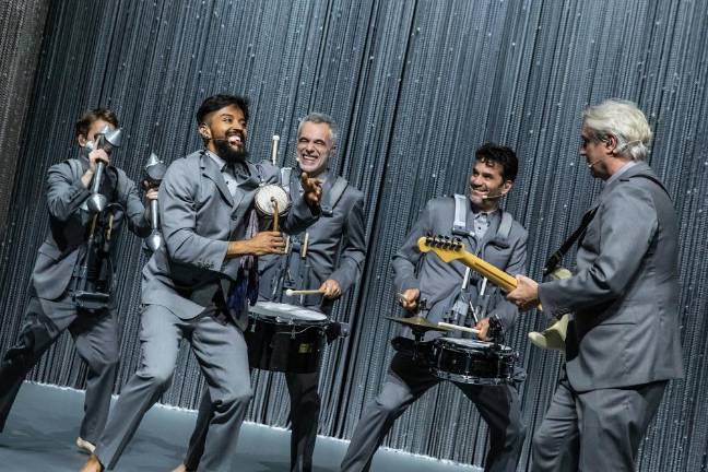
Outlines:
POLYGON ((578 391, 683 376, 676 215, 663 189, 641 175, 653 176, 646 163, 603 189, 577 273, 539 287, 547 312, 574 312, 566 373, 578 391))

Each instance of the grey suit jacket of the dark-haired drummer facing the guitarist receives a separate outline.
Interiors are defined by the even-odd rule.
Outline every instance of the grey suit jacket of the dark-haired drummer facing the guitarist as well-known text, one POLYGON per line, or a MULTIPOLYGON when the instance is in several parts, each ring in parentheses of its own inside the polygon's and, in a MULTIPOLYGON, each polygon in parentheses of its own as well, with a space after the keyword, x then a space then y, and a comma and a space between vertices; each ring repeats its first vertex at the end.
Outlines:
MULTIPOLYGON (((474 231, 474 214, 468 202, 467 229, 474 231)), ((455 199, 436 198, 427 202, 421 217, 413 225, 401 249, 393 256, 392 266, 396 273, 396 287, 399 292, 408 288, 418 288, 421 299, 427 300, 429 312, 427 318, 433 322, 440 321, 450 310, 459 293, 465 266, 460 261, 444 262, 435 253, 422 255, 417 248, 417 239, 428 235, 452 236, 455 220, 455 199)), ((509 237, 502 239, 497 229, 502 222, 500 211, 494 214, 484 236, 463 238, 465 249, 477 255, 485 261, 511 274, 526 271, 528 233, 520 223, 514 221, 509 237)), ((476 303, 481 278, 472 274, 470 283, 470 299, 476 303)), ((488 285, 492 288, 491 284, 488 285)), ((489 303, 487 316, 499 317, 505 329, 514 326, 518 315, 517 307, 507 302, 497 288, 489 303)))

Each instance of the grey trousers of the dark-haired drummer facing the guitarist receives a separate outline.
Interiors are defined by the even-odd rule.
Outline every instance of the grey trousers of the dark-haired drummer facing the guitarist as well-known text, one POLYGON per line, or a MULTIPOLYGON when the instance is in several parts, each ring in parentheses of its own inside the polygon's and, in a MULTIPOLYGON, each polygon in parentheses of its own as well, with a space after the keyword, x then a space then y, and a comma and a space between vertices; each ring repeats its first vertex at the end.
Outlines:
MULTIPOLYGON (((440 379, 405 354, 397 353, 391 361, 388 377, 378 397, 359 418, 344 459, 342 471, 368 471, 376 449, 405 412, 425 391, 440 379)), ((484 470, 487 472, 516 471, 526 425, 521 418, 519 393, 512 386, 473 386, 455 384, 472 400, 489 427, 489 450, 484 470)))

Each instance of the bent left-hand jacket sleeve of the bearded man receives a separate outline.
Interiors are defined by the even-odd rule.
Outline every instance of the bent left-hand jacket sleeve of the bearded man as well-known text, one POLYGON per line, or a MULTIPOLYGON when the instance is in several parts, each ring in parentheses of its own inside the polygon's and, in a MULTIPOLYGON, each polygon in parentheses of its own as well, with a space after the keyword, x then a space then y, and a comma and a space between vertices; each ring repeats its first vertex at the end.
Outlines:
POLYGON ((224 264, 228 241, 197 234, 194 182, 190 181, 187 161, 178 163, 167 169, 157 197, 167 253, 176 262, 219 270, 224 264))

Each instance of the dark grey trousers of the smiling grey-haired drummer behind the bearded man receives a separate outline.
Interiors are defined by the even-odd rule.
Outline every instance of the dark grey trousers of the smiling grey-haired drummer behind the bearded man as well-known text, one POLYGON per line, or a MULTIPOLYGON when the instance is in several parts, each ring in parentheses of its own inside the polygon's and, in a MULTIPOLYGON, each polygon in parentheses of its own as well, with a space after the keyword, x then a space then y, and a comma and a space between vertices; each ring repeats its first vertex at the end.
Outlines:
MULTIPOLYGON (((319 424, 320 396, 317 391, 319 373, 285 374, 287 391, 291 398, 291 472, 310 472, 312 455, 317 441, 319 424)), ((212 402, 205 390, 199 403, 197 425, 189 438, 189 449, 185 458, 187 470, 198 470, 204 453, 204 442, 209 424, 212 420, 212 402)))

